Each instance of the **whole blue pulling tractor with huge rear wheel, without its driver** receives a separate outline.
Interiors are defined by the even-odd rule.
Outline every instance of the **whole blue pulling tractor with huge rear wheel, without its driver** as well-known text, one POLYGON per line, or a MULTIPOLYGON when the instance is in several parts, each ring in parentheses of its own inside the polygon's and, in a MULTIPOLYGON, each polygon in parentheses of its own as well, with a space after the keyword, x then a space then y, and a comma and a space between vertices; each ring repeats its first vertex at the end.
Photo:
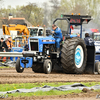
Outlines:
POLYGON ((23 57, 17 60, 16 71, 22 73, 24 68, 31 67, 34 72, 49 74, 56 63, 65 73, 99 73, 100 63, 95 65, 95 46, 86 46, 82 39, 82 24, 88 23, 91 16, 62 15, 53 24, 58 20, 68 22, 67 31, 63 34, 64 40, 60 45, 61 52, 57 53, 53 36, 30 37, 29 51, 23 52, 23 57), (80 38, 71 35, 72 25, 80 26, 80 38))

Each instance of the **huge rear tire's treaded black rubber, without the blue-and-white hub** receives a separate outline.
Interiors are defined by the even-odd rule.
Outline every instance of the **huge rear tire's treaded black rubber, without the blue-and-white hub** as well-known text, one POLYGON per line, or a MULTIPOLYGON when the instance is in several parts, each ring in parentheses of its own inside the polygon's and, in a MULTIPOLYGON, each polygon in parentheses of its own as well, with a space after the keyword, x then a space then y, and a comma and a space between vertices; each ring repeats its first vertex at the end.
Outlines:
POLYGON ((85 70, 86 61, 87 61, 87 50, 86 45, 84 43, 84 40, 80 38, 72 38, 65 41, 65 44, 62 47, 62 53, 61 53, 61 63, 62 67, 65 73, 82 73, 85 70), (81 43, 83 45, 83 49, 85 52, 84 57, 84 64, 83 67, 78 70, 75 67, 75 61, 74 61, 74 55, 75 55, 75 48, 78 43, 81 43))

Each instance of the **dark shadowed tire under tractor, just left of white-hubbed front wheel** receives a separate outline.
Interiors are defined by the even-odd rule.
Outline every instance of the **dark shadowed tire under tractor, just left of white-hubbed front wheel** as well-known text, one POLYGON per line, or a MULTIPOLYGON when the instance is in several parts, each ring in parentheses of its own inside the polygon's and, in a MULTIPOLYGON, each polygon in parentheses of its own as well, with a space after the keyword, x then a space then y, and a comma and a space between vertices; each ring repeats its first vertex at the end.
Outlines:
POLYGON ((33 63, 32 71, 35 73, 43 73, 43 63, 33 63))

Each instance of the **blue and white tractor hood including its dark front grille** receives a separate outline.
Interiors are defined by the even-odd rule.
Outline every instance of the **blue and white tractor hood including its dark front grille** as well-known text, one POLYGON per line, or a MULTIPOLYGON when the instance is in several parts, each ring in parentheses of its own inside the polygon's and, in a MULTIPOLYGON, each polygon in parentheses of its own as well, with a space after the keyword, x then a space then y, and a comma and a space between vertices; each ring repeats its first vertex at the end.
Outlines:
POLYGON ((29 38, 29 49, 31 51, 42 52, 43 45, 45 44, 55 44, 55 38, 52 36, 36 36, 29 38))

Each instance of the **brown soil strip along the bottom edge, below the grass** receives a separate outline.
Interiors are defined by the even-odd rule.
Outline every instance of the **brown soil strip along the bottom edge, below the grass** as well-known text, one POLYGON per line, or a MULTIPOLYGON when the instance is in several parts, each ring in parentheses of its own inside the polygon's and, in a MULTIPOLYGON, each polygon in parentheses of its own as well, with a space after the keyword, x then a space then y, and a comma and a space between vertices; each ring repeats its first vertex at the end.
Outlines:
POLYGON ((10 97, 3 100, 99 100, 100 93, 89 91, 87 93, 73 93, 59 96, 32 96, 32 97, 10 97))

